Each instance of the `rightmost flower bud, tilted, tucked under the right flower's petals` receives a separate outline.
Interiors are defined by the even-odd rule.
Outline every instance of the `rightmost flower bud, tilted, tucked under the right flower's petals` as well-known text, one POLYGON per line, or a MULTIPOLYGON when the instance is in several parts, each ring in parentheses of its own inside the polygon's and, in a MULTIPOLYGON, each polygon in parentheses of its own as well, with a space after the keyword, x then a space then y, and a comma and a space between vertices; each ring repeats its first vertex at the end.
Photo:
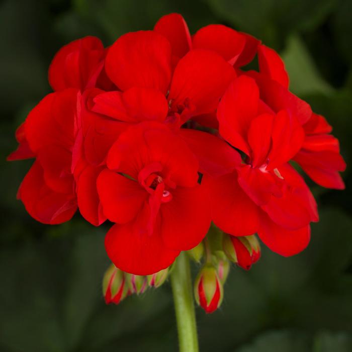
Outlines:
POLYGON ((249 270, 260 258, 260 245, 255 235, 236 237, 224 234, 223 249, 227 257, 244 270, 249 270))

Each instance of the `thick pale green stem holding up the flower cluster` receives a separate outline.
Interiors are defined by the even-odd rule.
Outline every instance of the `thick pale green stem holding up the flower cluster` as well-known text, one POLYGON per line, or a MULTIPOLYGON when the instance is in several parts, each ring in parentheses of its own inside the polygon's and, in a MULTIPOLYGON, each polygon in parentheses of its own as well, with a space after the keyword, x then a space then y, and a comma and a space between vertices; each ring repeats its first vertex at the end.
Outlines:
POLYGON ((179 333, 180 352, 198 352, 190 261, 185 252, 181 252, 173 264, 171 286, 179 333))

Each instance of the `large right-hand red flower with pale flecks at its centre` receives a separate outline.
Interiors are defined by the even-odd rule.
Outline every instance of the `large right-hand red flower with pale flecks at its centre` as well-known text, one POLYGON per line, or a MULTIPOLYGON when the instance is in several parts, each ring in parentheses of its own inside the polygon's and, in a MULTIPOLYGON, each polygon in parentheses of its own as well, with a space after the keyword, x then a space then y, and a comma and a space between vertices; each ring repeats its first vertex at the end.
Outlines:
POLYGON ((218 108, 219 131, 246 157, 232 174, 204 182, 217 226, 237 236, 257 232, 272 250, 292 255, 308 244, 309 223, 318 220, 313 196, 287 163, 304 131, 294 115, 266 111, 253 79, 241 76, 230 84, 218 108))

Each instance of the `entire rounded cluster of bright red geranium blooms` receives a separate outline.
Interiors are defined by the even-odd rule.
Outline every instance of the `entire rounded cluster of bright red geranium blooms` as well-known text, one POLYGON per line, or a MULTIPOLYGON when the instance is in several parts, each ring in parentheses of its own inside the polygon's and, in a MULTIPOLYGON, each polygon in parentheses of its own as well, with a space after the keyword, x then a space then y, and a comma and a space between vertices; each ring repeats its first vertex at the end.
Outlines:
POLYGON ((46 224, 77 208, 93 225, 109 219, 106 249, 125 272, 167 268, 211 221, 296 254, 318 213, 291 161, 323 187, 344 187, 330 125, 290 93, 273 49, 231 28, 191 36, 171 14, 108 48, 85 37, 60 49, 49 82, 54 93, 9 156, 35 158, 18 198, 46 224), (259 71, 244 70, 256 56, 259 71))

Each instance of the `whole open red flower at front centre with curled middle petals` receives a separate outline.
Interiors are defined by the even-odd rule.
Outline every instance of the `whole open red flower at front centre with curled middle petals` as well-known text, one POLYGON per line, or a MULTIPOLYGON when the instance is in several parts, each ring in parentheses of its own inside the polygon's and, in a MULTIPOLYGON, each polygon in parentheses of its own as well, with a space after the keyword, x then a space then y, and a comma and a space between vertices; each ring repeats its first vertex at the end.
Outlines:
POLYGON ((210 209, 198 184, 198 162, 167 127, 130 127, 110 149, 107 165, 98 192, 105 215, 116 223, 105 245, 118 268, 156 273, 206 235, 210 209))

